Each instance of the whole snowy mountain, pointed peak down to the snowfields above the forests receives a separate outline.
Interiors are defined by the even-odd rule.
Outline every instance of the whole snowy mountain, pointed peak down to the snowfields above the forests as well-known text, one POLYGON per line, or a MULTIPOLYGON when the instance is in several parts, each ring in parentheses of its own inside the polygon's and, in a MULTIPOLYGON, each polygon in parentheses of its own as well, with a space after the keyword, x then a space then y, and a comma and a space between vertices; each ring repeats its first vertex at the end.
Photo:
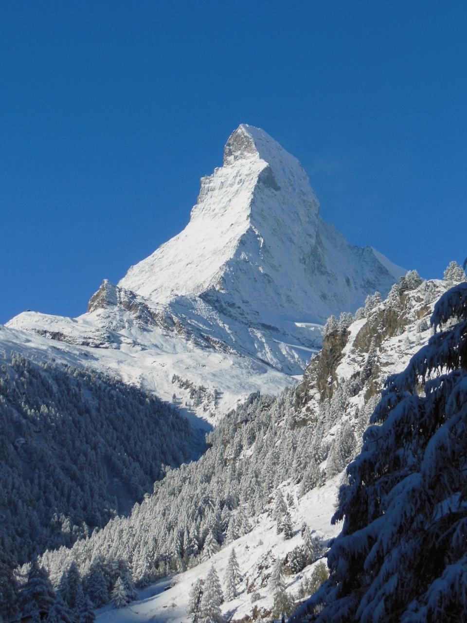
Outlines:
POLYGON ((349 245, 319 216, 300 163, 240 125, 181 234, 118 285, 105 280, 77 318, 16 316, 0 348, 3 336, 4 349, 175 394, 209 419, 252 391, 293 383, 321 347, 326 318, 387 293, 403 272, 349 245))

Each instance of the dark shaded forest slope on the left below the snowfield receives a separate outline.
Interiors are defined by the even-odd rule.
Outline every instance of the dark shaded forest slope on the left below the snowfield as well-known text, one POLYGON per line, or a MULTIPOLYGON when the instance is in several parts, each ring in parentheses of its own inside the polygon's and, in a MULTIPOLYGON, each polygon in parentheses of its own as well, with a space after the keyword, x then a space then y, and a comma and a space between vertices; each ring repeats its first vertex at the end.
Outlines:
POLYGON ((175 409, 133 386, 4 356, 0 548, 23 563, 71 546, 203 445, 175 409))

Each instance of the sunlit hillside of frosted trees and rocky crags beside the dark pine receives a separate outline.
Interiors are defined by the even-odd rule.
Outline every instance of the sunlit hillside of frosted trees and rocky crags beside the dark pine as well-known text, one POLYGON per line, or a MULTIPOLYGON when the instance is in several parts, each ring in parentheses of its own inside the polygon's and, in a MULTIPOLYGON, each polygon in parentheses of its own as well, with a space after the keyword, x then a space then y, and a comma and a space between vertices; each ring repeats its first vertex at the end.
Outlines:
POLYGON ((339 531, 341 526, 330 525, 337 490, 359 452, 384 381, 428 343, 435 302, 455 282, 422 282, 410 272, 384 301, 373 297, 347 325, 328 328, 323 350, 296 390, 275 399, 252 396, 215 427, 212 447, 198 462, 173 470, 130 517, 70 550, 45 554, 42 563, 51 577, 58 582, 72 561, 87 578, 91 560, 103 569, 131 560, 137 583, 148 573, 141 586, 151 573, 164 579, 144 588, 128 609, 99 611, 98 621, 143 623, 156 617, 186 623, 192 583, 205 579, 210 566, 223 578, 235 548, 242 580, 222 613, 237 621, 269 619, 279 560, 291 614, 313 590, 319 564, 313 556, 314 562, 307 559, 303 522, 322 543, 339 531), (290 516, 289 534, 276 531, 279 492, 286 500, 283 515, 290 516), (214 546, 210 533, 216 535, 214 546), (167 557, 170 577, 163 567, 167 557))

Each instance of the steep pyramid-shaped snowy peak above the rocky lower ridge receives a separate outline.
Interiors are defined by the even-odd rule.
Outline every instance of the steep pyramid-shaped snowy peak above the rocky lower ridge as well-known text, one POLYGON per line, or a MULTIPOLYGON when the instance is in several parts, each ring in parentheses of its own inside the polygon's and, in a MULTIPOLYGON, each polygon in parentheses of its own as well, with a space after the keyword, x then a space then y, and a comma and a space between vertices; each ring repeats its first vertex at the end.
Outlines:
POLYGON ((119 285, 156 302, 200 295, 229 315, 278 326, 355 310, 403 272, 325 224, 298 160, 242 124, 227 140, 224 166, 201 179, 186 228, 119 285))

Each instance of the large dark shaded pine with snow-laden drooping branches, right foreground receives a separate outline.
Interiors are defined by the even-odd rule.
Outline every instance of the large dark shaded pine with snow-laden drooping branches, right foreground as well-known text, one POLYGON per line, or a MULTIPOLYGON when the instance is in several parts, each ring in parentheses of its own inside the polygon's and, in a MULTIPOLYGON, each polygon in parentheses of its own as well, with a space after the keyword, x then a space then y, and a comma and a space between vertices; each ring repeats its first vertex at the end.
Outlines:
POLYGON ((331 576, 293 621, 465 618, 467 283, 440 298, 431 323, 448 328, 387 380, 339 492, 331 576))

